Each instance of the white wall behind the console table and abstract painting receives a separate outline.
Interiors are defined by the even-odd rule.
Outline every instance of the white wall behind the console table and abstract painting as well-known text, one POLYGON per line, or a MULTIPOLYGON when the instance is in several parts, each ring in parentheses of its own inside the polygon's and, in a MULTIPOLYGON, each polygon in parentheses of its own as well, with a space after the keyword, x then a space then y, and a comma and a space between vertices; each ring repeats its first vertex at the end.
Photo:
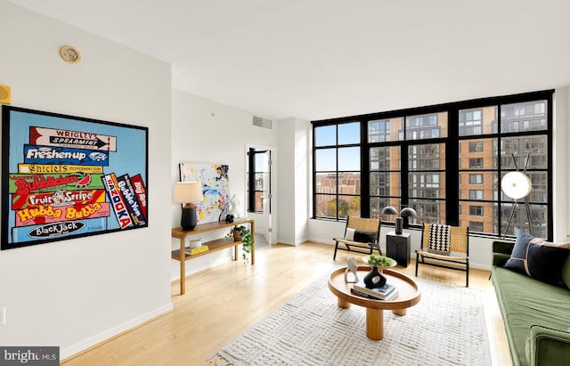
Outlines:
MULTIPOLYGON (((227 164, 230 167, 230 196, 235 195, 239 201, 240 217, 246 216, 246 146, 277 146, 277 124, 273 123, 273 129, 253 126, 253 114, 246 110, 179 90, 173 91, 172 118, 171 184, 179 181, 180 163, 227 164)), ((279 169, 279 161, 275 165, 279 169)), ((180 226, 180 210, 180 204, 171 201, 172 227, 180 226)), ((204 234, 203 240, 223 237, 227 232, 204 234)), ((180 248, 178 240, 171 240, 171 244, 173 249, 180 248)), ((186 273, 199 272, 225 262, 231 256, 232 249, 227 249, 192 259, 186 262, 186 273)), ((173 279, 180 278, 179 268, 179 262, 172 260, 170 272, 173 279)))

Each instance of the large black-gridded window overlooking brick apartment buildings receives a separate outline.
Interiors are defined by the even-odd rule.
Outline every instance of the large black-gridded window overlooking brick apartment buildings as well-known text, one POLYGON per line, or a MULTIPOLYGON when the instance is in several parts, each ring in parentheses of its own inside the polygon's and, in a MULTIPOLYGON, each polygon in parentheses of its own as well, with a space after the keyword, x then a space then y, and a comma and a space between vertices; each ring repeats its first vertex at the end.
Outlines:
MULTIPOLYGON (((552 94, 314 121, 314 218, 413 207, 418 217, 404 224, 469 225, 502 236, 515 205, 501 177, 525 170, 534 235, 551 239, 552 94)), ((517 228, 528 228, 522 201, 507 234, 517 228)))

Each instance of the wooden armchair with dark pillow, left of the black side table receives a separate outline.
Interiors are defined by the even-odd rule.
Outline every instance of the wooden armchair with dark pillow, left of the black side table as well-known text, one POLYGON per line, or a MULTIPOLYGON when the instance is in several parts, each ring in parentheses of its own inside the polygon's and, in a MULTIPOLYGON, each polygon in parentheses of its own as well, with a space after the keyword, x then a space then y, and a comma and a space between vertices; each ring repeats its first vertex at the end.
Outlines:
POLYGON ((333 238, 335 240, 335 254, 333 260, 337 259, 337 250, 346 250, 362 254, 372 254, 372 249, 379 251, 380 248, 380 219, 348 216, 346 220, 345 236, 343 238, 333 238))

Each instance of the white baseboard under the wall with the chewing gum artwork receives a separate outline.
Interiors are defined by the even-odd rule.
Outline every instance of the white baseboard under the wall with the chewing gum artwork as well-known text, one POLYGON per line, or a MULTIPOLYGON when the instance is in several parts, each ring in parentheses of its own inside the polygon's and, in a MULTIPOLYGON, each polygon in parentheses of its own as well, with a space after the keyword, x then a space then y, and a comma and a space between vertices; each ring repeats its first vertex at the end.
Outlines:
POLYGON ((60 351, 60 359, 61 360, 65 360, 66 358, 77 354, 81 351, 84 351, 85 349, 91 347, 91 346, 95 346, 109 338, 112 338, 114 336, 117 336, 118 334, 128 330, 128 329, 133 329, 134 327, 136 327, 139 324, 142 324, 144 321, 150 321, 153 318, 156 318, 159 315, 162 315, 163 313, 167 313, 169 311, 171 311, 174 308, 174 306, 172 305, 172 303, 169 303, 167 305, 163 305, 160 306, 159 308, 149 312, 149 313, 144 313, 141 316, 137 316, 136 318, 130 320, 130 321, 126 321, 122 324, 119 324, 117 327, 113 327, 111 329, 107 329, 105 331, 103 331, 102 333, 99 333, 93 337, 87 338, 81 342, 78 342, 77 344, 73 345, 73 346, 69 346, 66 348, 61 349, 60 351))

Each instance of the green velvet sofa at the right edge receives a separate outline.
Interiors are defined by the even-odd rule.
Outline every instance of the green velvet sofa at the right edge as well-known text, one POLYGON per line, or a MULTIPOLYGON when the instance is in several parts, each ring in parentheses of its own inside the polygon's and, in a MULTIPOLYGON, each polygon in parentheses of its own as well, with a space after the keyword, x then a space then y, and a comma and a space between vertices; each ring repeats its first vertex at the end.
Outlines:
POLYGON ((493 242, 491 271, 513 364, 569 365, 570 256, 557 286, 505 268, 514 246, 512 241, 493 242))

